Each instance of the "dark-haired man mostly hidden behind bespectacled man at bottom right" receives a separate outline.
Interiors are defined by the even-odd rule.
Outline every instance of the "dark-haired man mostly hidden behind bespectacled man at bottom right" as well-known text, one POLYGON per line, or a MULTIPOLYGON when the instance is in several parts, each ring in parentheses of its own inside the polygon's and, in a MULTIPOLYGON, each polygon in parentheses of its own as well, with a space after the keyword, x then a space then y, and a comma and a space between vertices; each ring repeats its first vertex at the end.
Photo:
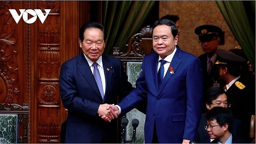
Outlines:
MULTIPOLYGON (((228 97, 225 91, 220 87, 211 87, 205 93, 205 105, 208 110, 214 107, 230 108, 231 104, 228 103, 228 97)), ((198 129, 197 143, 210 143, 214 139, 210 139, 204 126, 206 124, 206 113, 202 114, 198 129)), ((234 119, 232 135, 235 137, 241 137, 241 122, 234 119)))

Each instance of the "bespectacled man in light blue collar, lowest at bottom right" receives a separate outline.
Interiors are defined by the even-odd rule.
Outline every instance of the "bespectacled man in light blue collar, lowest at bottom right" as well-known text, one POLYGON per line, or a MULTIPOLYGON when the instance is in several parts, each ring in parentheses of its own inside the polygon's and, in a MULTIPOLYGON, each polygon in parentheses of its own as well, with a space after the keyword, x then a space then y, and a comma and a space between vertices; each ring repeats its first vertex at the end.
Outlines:
POLYGON ((233 115, 223 107, 214 107, 205 116, 207 124, 204 126, 211 143, 249 143, 232 134, 233 115))

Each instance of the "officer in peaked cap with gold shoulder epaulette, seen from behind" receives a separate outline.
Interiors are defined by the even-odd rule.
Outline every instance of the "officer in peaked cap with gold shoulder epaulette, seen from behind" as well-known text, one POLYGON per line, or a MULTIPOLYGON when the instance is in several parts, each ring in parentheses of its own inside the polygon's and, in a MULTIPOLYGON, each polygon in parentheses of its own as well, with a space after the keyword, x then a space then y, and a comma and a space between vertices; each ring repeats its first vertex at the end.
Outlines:
POLYGON ((241 120, 243 138, 249 141, 251 115, 255 114, 255 89, 241 77, 241 65, 246 59, 224 49, 217 50, 216 54, 220 58, 215 65, 220 78, 226 83, 223 88, 231 104, 231 112, 234 118, 241 120))

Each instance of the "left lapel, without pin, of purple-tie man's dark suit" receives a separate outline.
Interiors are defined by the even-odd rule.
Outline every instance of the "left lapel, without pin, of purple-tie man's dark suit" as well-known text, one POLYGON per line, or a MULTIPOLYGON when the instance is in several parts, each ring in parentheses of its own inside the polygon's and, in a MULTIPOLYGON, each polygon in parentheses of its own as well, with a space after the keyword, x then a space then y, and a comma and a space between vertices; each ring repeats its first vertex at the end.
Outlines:
POLYGON ((84 53, 82 53, 80 56, 81 57, 80 57, 80 59, 78 60, 78 63, 77 63, 78 70, 81 72, 81 74, 87 80, 89 85, 94 89, 94 91, 97 93, 97 95, 102 99, 102 97, 100 95, 100 90, 99 90, 99 88, 97 86, 97 83, 94 79, 94 76, 91 72, 89 64, 88 64, 87 60, 84 57, 84 53))

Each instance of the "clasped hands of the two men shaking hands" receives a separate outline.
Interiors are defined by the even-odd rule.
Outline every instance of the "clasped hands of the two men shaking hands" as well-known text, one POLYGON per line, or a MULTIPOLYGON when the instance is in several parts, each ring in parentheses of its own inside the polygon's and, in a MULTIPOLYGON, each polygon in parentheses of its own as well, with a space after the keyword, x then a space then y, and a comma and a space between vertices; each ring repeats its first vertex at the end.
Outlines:
POLYGON ((117 115, 119 113, 119 109, 113 104, 102 104, 98 108, 97 114, 107 122, 110 122, 114 118, 117 118, 117 115))

